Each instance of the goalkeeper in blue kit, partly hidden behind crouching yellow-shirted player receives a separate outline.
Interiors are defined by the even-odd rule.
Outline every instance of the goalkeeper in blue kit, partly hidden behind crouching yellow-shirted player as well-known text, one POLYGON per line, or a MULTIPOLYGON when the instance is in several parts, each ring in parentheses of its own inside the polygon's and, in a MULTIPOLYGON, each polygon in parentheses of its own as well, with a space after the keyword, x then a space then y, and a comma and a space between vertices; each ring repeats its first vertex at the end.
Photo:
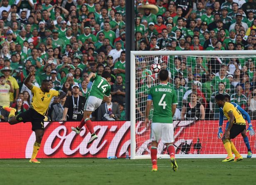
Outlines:
MULTIPOLYGON (((244 119, 248 121, 249 123, 249 127, 247 130, 244 130, 243 132, 241 132, 242 137, 244 138, 244 143, 247 147, 248 150, 248 154, 247 154, 247 158, 251 158, 252 156, 252 152, 251 152, 251 147, 250 147, 250 143, 249 143, 249 139, 246 136, 246 132, 249 132, 249 135, 255 135, 254 129, 251 125, 251 119, 249 114, 244 111, 244 109, 242 109, 239 105, 237 105, 234 102, 230 102, 230 96, 229 95, 225 95, 225 101, 231 103, 232 105, 234 105, 235 108, 237 108, 241 114, 243 115, 244 119)), ((219 108, 219 131, 218 131, 218 138, 221 139, 222 138, 222 124, 223 124, 223 120, 224 120, 224 113, 223 113, 223 108, 219 108)), ((226 129, 229 127, 229 122, 226 123, 226 129)), ((225 130, 226 130, 225 129, 225 130)))

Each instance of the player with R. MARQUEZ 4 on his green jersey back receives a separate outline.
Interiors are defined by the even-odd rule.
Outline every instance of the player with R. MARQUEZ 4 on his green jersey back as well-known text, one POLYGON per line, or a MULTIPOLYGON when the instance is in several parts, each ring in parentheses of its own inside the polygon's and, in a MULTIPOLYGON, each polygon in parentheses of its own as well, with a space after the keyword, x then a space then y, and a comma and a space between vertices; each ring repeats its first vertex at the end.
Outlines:
POLYGON ((158 171, 157 166, 157 149, 158 143, 161 139, 167 147, 167 151, 170 154, 171 164, 173 171, 177 171, 177 163, 175 161, 175 147, 174 142, 174 130, 172 125, 172 116, 175 114, 176 106, 178 104, 177 95, 170 86, 169 72, 167 70, 160 70, 159 72, 160 84, 151 87, 148 94, 147 106, 145 111, 145 127, 148 127, 149 113, 153 103, 153 116, 151 123, 151 161, 152 171, 158 171))

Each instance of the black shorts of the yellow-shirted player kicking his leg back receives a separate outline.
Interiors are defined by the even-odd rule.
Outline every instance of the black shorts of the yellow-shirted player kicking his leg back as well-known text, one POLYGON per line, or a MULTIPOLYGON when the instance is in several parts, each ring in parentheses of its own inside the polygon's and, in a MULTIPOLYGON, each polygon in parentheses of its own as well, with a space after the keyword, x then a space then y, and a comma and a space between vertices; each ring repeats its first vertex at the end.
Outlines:
POLYGON ((16 119, 24 123, 31 122, 33 131, 44 130, 44 116, 33 108, 29 108, 26 112, 20 113, 16 119))

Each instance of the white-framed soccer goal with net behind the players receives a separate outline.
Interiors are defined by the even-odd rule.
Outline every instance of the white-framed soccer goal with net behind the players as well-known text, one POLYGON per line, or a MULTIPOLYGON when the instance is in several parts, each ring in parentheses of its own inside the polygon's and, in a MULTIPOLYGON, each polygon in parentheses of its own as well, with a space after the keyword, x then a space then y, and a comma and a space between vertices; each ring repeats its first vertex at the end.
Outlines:
MULTIPOLYGON (((251 118, 255 116, 256 50, 131 51, 130 62, 131 159, 150 159, 150 129, 144 127, 144 116, 148 91, 159 83, 158 73, 150 70, 154 63, 169 71, 169 85, 177 93, 178 105, 173 118, 177 158, 226 157, 222 140, 217 137, 219 107, 214 100, 216 94, 228 94, 231 102, 241 106, 251 118)), ((152 112, 153 107, 150 118, 152 112)), ((226 122, 224 118, 223 133, 226 122)), ((254 130, 255 122, 251 120, 254 130)), ((246 135, 252 152, 256 153, 255 135, 249 135, 249 132, 246 135)), ((239 135, 232 141, 246 157, 244 138, 239 135)), ((169 158, 161 141, 158 157, 169 158)))

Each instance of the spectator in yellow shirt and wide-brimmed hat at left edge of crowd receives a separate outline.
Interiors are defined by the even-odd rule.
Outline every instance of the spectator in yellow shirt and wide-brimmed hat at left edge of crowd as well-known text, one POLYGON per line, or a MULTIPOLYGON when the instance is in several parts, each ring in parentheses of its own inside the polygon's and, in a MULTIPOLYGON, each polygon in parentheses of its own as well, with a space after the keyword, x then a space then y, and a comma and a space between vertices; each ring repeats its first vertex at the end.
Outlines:
POLYGON ((10 69, 10 67, 3 67, 1 70, 1 73, 5 76, 6 80, 10 81, 10 83, 13 86, 13 89, 15 90, 15 98, 14 98, 14 94, 12 92, 10 92, 10 102, 12 103, 12 102, 16 101, 18 98, 19 85, 18 85, 16 79, 10 75, 12 73, 12 70, 10 69))

